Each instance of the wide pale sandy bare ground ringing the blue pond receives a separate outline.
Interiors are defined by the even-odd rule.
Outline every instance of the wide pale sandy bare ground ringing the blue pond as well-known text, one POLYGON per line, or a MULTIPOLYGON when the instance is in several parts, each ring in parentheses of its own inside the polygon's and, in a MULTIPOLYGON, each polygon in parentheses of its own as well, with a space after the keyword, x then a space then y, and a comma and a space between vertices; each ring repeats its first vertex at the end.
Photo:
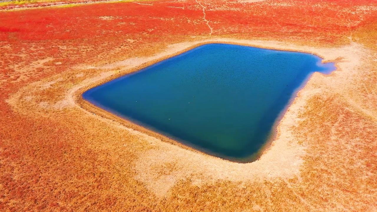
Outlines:
MULTIPOLYGON (((307 151, 307 147, 300 142, 300 139, 292 129, 303 121, 303 119, 300 118, 300 114, 305 111, 308 101, 315 95, 326 95, 328 92, 334 91, 334 88, 337 87, 334 86, 334 83, 340 83, 339 87, 341 87, 343 80, 340 79, 346 79, 354 75, 357 71, 357 66, 362 64, 362 58, 367 54, 368 52, 363 49, 361 45, 357 45, 356 43, 337 49, 323 49, 289 45, 276 41, 234 40, 224 38, 184 42, 171 45, 166 50, 152 57, 130 58, 100 67, 80 67, 80 69, 83 70, 95 68, 101 70, 117 69, 118 71, 105 71, 97 77, 84 80, 74 88, 71 88, 67 92, 66 97, 60 100, 60 102, 64 104, 63 108, 81 109, 83 113, 90 116, 93 120, 111 123, 112 128, 115 127, 124 129, 127 132, 132 132, 132 134, 140 136, 141 140, 145 140, 147 146, 153 146, 152 149, 139 153, 138 159, 133 161, 133 169, 137 173, 135 179, 145 183, 147 188, 158 197, 164 197, 178 181, 184 179, 190 179, 193 184, 196 185, 214 183, 217 180, 234 182, 246 182, 249 180, 264 181, 274 178, 289 180, 294 177, 300 178, 300 169, 302 168, 304 162, 303 158, 307 151), (337 70, 334 71, 333 74, 325 76, 315 73, 307 82, 306 86, 297 93, 297 97, 294 98, 292 104, 282 117, 282 120, 277 124, 278 133, 276 138, 272 141, 271 146, 264 150, 262 156, 257 161, 239 164, 203 154, 179 142, 94 107, 81 98, 81 94, 84 91, 98 84, 137 71, 174 55, 181 54, 196 46, 216 42, 313 53, 324 58, 326 62, 336 62, 337 70), (112 120, 115 120, 115 122, 112 120), (164 173, 166 164, 173 164, 172 167, 174 167, 174 169, 169 171, 169 174, 161 174, 164 173)), ((13 95, 8 102, 12 104, 17 111, 22 111, 22 108, 17 107, 17 103, 22 102, 22 98, 25 98, 25 92, 30 93, 30 91, 51 86, 51 84, 54 83, 53 79, 56 78, 63 78, 63 76, 54 76, 51 79, 52 82, 47 80, 47 82, 44 83, 33 83, 13 95)), ((35 105, 43 106, 44 104, 41 105, 41 103, 36 102, 35 105)), ((43 107, 46 108, 46 106, 43 107)), ((53 108, 51 106, 47 107, 48 109, 53 108)), ((172 167, 170 168, 172 169, 172 167)))

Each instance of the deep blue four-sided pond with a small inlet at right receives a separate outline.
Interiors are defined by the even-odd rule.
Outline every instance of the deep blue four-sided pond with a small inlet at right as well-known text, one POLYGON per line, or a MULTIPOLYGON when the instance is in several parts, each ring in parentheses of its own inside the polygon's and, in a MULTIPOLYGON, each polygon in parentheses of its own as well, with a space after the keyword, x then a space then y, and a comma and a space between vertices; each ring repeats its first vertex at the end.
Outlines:
POLYGON ((206 44, 84 92, 96 106, 199 151, 255 160, 314 72, 334 63, 301 52, 206 44))

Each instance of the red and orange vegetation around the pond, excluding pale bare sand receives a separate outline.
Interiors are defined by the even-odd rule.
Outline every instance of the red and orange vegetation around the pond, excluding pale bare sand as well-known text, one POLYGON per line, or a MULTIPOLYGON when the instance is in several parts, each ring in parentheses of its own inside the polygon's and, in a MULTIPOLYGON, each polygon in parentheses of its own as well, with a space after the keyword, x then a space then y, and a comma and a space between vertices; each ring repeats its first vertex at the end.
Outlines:
POLYGON ((376 22, 375 0, 165 0, 0 11, 0 211, 377 210, 376 22), (198 187, 181 179, 161 199, 133 177, 135 149, 152 148, 137 135, 78 108, 40 107, 58 103, 73 86, 109 71, 81 66, 147 57, 170 44, 209 37, 328 48, 356 42, 371 52, 368 74, 352 79, 354 91, 347 90, 349 96, 357 93, 354 101, 362 109, 342 94, 311 100, 303 114, 308 122, 297 127, 306 131, 301 139, 311 152, 302 181, 290 181, 294 186, 277 179, 246 183, 244 189, 227 180, 198 187), (25 100, 10 100, 25 86, 55 75, 56 86, 22 91, 25 100), (346 113, 346 107, 357 112, 346 113), (326 127, 339 124, 330 119, 337 117, 345 125, 337 136, 370 142, 369 147, 352 144, 353 154, 365 160, 346 161, 352 173, 335 168, 346 151, 341 140, 326 137, 326 127), (321 123, 326 126, 314 128, 321 123), (123 143, 127 149, 120 148, 123 143), (329 146, 335 154, 326 152, 329 146), (337 180, 352 179, 357 171, 370 177, 337 180))

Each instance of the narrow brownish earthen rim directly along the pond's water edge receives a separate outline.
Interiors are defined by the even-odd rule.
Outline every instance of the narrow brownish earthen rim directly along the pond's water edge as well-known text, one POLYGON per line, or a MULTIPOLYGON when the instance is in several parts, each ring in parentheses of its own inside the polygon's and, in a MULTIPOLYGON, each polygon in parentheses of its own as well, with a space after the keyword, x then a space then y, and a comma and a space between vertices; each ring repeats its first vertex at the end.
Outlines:
MULTIPOLYGON (((269 138, 265 142, 265 144, 261 147, 261 149, 258 152, 254 153, 253 155, 250 155, 250 157, 245 158, 245 160, 239 160, 239 159, 236 159, 236 158, 234 158, 234 160, 231 159, 231 158, 224 159, 224 158, 221 158, 220 156, 216 156, 217 154, 207 154, 207 153, 201 151, 200 148, 190 146, 187 143, 182 143, 180 141, 176 141, 172 138, 169 138, 165 135, 160 134, 159 132, 152 131, 150 129, 147 129, 144 126, 136 124, 133 121, 131 121, 131 120, 125 118, 125 117, 121 117, 121 116, 112 114, 111 112, 108 112, 105 109, 97 107, 94 104, 90 103, 89 101, 84 100, 83 97, 82 97, 82 94, 84 92, 86 92, 87 90, 91 89, 91 88, 94 88, 94 87, 99 86, 101 84, 107 83, 111 80, 122 77, 124 75, 133 74, 135 72, 138 72, 141 69, 144 69, 148 66, 151 66, 155 63, 166 60, 168 58, 174 57, 176 55, 182 54, 184 52, 190 51, 190 50, 192 50, 192 49, 194 49, 198 46, 202 46, 202 45, 206 45, 206 44, 214 44, 214 43, 241 45, 241 46, 249 46, 249 47, 271 49, 271 50, 278 50, 278 51, 288 51, 288 52, 300 52, 300 53, 314 54, 314 55, 317 55, 320 58, 322 58, 321 63, 335 62, 335 61, 330 61, 330 60, 325 61, 324 57, 322 55, 313 53, 312 51, 303 51, 302 49, 282 48, 282 47, 277 47, 277 46, 266 47, 263 44, 262 45, 256 45, 255 43, 247 43, 247 42, 244 42, 242 40, 233 40, 233 39, 231 39, 231 40, 229 40, 229 39, 213 39, 213 40, 205 40, 205 41, 196 41, 196 42, 193 42, 193 45, 191 45, 189 47, 184 48, 185 46, 183 46, 184 49, 181 49, 179 51, 173 52, 174 51, 173 50, 173 51, 164 52, 164 55, 162 55, 161 57, 159 57, 157 59, 151 59, 151 60, 149 60, 145 63, 142 63, 141 65, 135 66, 133 68, 124 69, 124 70, 122 70, 122 71, 120 71, 116 74, 111 75, 110 77, 100 79, 100 80, 95 81, 93 83, 87 84, 86 86, 81 87, 80 89, 78 89, 74 93, 74 100, 81 108, 85 109, 86 111, 92 112, 92 113, 96 114, 97 116, 100 115, 102 118, 114 120, 117 123, 120 123, 123 126, 126 126, 127 128, 131 128, 131 129, 139 131, 141 133, 144 133, 144 134, 150 135, 152 137, 158 138, 158 139, 162 140, 163 142, 171 143, 171 144, 174 144, 176 146, 187 149, 189 151, 195 152, 195 153, 204 154, 206 156, 219 158, 221 160, 225 160, 225 161, 229 161, 229 162, 233 162, 233 163, 253 163, 254 161, 259 160, 260 157, 263 154, 265 154, 265 152, 268 151, 268 149, 271 147, 271 145, 273 144, 273 141, 276 139, 277 135, 279 134, 277 127, 279 126, 282 118, 284 117, 284 115, 288 111, 288 109, 290 108, 290 105, 294 102, 295 98, 297 97, 297 93, 302 88, 305 87, 305 85, 307 84, 307 82, 310 80, 310 78, 313 76, 314 73, 311 74, 310 76, 308 76, 307 79, 305 79, 302 82, 301 86, 296 88, 295 91, 292 93, 292 97, 291 97, 290 101, 288 102, 287 106, 285 106, 285 108, 279 113, 278 117, 276 118, 276 121, 274 122, 274 124, 271 128, 271 135, 269 136, 269 138)), ((182 44, 184 45, 185 43, 178 43, 176 45, 182 45, 182 44)), ((335 63, 335 66, 336 66, 336 63, 335 63)), ((210 152, 210 151, 207 151, 207 152, 210 152)))

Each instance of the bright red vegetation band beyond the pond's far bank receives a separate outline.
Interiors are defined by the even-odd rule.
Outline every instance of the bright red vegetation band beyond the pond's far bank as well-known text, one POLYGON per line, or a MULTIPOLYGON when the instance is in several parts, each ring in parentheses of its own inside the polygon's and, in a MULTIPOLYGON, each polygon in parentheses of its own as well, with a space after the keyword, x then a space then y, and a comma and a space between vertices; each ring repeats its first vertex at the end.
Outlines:
MULTIPOLYGON (((377 16, 375 10, 358 9, 373 8, 372 0, 240 2, 202 3, 213 36, 334 44, 342 43, 360 25, 373 23, 377 16)), ((60 72, 83 62, 115 60, 108 52, 116 48, 121 49, 116 57, 124 58, 210 33, 195 1, 143 4, 151 5, 109 3, 1 12, 0 40, 3 47, 9 46, 0 53, 1 80, 8 81, 8 73, 15 71, 10 65, 26 65, 47 55, 63 63, 49 72, 60 72)))

